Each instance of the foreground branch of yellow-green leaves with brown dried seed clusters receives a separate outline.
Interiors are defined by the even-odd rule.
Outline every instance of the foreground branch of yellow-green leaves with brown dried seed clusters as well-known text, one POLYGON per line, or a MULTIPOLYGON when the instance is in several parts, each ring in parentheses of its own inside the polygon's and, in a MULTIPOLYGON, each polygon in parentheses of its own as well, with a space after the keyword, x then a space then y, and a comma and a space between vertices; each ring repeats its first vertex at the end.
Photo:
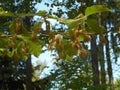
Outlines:
POLYGON ((14 14, 0 8, 0 16, 14 17, 14 20, 9 24, 9 35, 0 35, 0 55, 8 55, 16 60, 27 59, 29 54, 38 57, 42 52, 42 46, 45 46, 44 39, 38 38, 42 36, 48 40, 48 49, 55 48, 60 58, 71 60, 74 55, 82 57, 88 54, 88 51, 85 50, 81 42, 89 42, 91 40, 90 34, 102 36, 105 33, 105 29, 98 25, 97 20, 89 19, 88 16, 104 11, 110 10, 105 6, 93 5, 85 10, 85 15, 80 14, 74 19, 63 19, 49 15, 45 10, 40 10, 37 13, 14 14), (27 30, 22 21, 25 16, 40 16, 43 17, 43 21, 35 23, 30 27, 30 30, 27 30), (64 33, 51 31, 50 22, 47 21, 49 18, 67 25, 68 30, 64 33), (44 33, 41 29, 43 23, 46 24, 44 33))

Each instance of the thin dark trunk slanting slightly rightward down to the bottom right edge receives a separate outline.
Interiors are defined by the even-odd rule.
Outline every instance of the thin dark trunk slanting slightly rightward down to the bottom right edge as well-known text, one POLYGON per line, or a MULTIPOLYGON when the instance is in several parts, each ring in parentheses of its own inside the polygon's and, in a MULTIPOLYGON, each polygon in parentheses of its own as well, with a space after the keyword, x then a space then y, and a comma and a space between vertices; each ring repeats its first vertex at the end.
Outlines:
POLYGON ((108 36, 106 36, 107 44, 106 44, 106 59, 107 59, 107 71, 108 71, 108 77, 109 77, 109 86, 110 90, 114 90, 113 85, 113 72, 112 72, 112 64, 111 64, 111 57, 110 57, 110 48, 109 48, 109 40, 108 36))

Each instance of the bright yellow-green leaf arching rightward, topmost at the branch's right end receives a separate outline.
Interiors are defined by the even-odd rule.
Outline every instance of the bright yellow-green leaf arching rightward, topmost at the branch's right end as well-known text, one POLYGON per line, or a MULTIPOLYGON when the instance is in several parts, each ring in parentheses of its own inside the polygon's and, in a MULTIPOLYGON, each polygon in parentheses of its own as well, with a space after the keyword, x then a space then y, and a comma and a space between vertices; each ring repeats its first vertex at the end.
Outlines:
POLYGON ((96 14, 99 12, 111 12, 110 9, 108 9, 107 7, 103 6, 103 5, 93 5, 91 7, 87 7, 87 9, 85 10, 85 16, 90 16, 92 14, 96 14))

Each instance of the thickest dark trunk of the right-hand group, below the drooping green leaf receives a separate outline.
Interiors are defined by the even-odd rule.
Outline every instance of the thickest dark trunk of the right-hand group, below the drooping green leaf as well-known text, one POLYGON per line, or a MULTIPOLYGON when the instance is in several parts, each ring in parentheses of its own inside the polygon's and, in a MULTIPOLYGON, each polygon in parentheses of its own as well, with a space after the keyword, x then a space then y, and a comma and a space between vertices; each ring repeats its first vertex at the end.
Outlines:
POLYGON ((92 71, 93 71, 93 85, 98 86, 100 84, 100 81, 99 81, 97 45, 96 45, 95 35, 92 35, 92 39, 91 39, 91 61, 92 61, 92 71))

